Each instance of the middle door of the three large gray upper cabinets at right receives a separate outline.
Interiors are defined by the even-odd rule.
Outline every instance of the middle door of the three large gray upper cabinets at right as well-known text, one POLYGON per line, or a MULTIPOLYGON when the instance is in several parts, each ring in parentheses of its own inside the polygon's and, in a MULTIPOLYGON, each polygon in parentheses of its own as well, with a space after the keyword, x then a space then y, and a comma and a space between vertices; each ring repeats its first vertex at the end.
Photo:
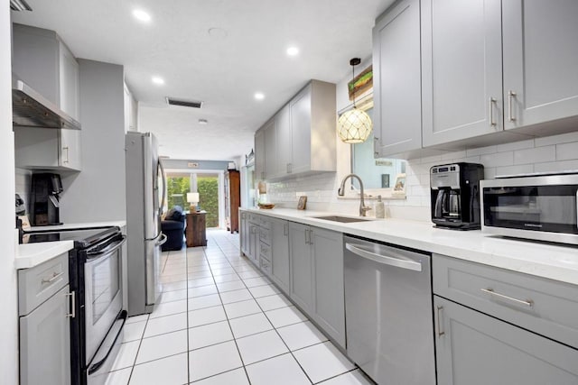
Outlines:
POLYGON ((423 0, 424 147, 503 129, 500 0, 423 0))

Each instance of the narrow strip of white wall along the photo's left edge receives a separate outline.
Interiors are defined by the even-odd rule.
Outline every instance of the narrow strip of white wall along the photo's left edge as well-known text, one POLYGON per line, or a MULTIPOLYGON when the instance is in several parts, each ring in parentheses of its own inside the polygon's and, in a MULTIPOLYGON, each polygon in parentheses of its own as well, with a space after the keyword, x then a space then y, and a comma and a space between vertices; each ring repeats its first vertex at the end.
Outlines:
MULTIPOLYGON (((0 164, 5 179, 0 188, 0 202, 12 206, 14 199, 14 133, 12 132, 12 63, 10 7, 0 0, 0 164)), ((0 215, 0 382, 18 383, 18 307, 16 270, 14 270, 14 208, 0 215)))

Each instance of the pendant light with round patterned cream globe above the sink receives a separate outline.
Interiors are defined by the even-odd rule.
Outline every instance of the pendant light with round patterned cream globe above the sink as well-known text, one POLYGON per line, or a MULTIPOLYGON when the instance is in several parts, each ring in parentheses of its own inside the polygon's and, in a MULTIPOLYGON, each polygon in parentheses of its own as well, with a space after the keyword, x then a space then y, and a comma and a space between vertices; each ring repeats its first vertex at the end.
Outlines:
MULTIPOLYGON (((355 78, 355 66, 360 62, 359 58, 350 60, 352 78, 355 78)), ((341 142, 361 143, 368 139, 373 129, 373 122, 365 111, 359 110, 355 105, 355 90, 353 91, 353 108, 341 114, 337 123, 337 133, 340 135, 341 142)))

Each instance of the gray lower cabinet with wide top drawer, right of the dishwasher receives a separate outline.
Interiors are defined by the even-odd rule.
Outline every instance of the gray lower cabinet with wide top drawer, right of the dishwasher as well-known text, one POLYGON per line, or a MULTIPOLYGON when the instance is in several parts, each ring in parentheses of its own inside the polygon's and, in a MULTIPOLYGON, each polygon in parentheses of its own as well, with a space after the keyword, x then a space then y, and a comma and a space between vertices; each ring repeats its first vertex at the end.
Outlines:
POLYGON ((438 384, 578 383, 578 287, 433 254, 438 384))

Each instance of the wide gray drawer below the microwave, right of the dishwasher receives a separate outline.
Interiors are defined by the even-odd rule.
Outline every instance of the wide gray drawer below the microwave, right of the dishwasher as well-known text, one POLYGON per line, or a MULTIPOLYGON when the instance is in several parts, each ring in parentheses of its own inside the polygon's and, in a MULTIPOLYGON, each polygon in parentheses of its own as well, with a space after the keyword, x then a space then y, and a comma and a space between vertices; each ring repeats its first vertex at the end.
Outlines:
POLYGON ((433 254, 433 293, 578 349, 578 286, 433 254))

